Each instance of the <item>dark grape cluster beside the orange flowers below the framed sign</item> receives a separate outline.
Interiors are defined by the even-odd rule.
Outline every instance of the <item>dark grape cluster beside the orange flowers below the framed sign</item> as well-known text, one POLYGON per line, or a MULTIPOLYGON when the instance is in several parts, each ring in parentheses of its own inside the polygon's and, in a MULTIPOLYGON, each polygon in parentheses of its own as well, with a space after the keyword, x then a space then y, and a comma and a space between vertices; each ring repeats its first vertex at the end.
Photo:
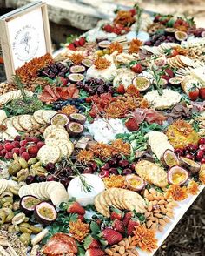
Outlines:
POLYGON ((50 64, 49 66, 43 68, 39 71, 40 77, 49 77, 54 79, 55 77, 67 77, 66 74, 69 72, 69 68, 58 62, 55 64, 50 64))

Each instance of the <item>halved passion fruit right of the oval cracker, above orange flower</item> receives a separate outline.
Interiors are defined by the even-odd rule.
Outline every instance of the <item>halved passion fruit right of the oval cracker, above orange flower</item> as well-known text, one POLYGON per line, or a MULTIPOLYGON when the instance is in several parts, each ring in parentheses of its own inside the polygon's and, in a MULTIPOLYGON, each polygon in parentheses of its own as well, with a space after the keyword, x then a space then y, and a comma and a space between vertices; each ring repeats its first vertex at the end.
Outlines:
POLYGON ((171 167, 168 171, 169 184, 183 185, 188 180, 188 171, 179 165, 171 167))

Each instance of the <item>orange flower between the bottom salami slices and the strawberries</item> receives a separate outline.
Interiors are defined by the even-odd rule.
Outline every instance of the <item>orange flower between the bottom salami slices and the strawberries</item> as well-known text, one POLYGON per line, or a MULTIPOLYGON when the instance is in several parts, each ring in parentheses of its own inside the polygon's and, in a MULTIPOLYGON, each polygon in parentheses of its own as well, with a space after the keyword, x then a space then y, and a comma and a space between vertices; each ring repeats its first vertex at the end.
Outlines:
POLYGON ((89 224, 84 223, 81 219, 77 219, 76 222, 69 222, 69 233, 73 238, 79 242, 83 242, 84 238, 89 233, 89 224))

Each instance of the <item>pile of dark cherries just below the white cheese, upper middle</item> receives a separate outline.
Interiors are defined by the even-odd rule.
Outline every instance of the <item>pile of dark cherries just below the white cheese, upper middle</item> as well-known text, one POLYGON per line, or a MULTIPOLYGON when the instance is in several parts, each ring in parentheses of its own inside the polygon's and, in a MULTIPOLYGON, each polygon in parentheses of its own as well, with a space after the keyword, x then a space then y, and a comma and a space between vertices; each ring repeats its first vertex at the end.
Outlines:
POLYGON ((105 81, 99 78, 89 78, 87 81, 77 82, 76 86, 88 92, 89 95, 100 95, 106 92, 110 92, 112 94, 114 92, 112 83, 105 83, 105 81))

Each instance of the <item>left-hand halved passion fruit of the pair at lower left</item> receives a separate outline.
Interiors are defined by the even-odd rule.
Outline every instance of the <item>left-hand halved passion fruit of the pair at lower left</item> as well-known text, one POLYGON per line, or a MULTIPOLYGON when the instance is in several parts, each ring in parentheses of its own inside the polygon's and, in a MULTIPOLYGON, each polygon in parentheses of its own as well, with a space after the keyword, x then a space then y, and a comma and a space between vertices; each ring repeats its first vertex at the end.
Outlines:
POLYGON ((38 205, 39 203, 41 203, 41 200, 37 199, 34 196, 24 196, 20 200, 20 209, 22 210, 22 212, 29 215, 34 212, 36 205, 38 205))

